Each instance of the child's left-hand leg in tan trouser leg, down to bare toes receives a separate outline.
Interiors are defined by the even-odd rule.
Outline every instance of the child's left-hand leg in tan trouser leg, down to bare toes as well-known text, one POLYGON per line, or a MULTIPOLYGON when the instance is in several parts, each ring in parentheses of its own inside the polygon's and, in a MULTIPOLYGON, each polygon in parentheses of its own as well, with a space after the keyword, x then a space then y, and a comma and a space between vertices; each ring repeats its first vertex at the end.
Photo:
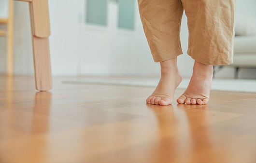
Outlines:
POLYGON ((160 62, 161 79, 149 104, 169 105, 181 82, 177 56, 182 54, 180 27, 183 6, 180 0, 138 0, 143 29, 155 62, 160 62))

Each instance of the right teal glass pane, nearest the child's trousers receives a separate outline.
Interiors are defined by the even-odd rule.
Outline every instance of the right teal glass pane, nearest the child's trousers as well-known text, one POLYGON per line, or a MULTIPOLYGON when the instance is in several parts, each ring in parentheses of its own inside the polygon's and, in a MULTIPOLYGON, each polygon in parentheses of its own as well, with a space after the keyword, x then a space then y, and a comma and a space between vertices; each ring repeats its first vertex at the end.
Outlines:
POLYGON ((135 0, 118 0, 118 27, 134 29, 135 0))

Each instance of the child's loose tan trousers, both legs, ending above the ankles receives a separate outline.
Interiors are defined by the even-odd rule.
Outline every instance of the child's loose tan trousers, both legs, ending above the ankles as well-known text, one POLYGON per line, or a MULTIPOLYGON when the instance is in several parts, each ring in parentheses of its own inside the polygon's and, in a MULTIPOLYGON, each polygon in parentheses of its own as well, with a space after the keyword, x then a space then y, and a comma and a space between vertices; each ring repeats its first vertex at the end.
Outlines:
POLYGON ((155 62, 183 54, 183 11, 189 31, 188 50, 206 65, 233 62, 235 0, 138 0, 143 29, 155 62))

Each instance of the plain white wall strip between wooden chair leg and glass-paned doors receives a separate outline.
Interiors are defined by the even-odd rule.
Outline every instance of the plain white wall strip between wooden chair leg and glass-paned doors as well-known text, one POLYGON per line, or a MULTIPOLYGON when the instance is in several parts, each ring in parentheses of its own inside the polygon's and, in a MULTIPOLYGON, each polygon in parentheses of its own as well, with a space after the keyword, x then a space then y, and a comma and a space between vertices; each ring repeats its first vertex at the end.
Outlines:
POLYGON ((50 48, 53 74, 77 74, 79 0, 48 1, 51 16, 50 48))

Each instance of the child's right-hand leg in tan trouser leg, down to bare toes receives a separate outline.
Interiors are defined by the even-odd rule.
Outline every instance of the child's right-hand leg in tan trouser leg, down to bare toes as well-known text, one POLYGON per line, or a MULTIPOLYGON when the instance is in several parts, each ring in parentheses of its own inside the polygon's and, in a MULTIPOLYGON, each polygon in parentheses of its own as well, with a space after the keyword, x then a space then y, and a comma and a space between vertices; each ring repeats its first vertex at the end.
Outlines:
POLYGON ((212 65, 233 62, 235 0, 182 0, 189 30, 188 51, 195 64, 189 85, 177 102, 206 104, 212 65))

